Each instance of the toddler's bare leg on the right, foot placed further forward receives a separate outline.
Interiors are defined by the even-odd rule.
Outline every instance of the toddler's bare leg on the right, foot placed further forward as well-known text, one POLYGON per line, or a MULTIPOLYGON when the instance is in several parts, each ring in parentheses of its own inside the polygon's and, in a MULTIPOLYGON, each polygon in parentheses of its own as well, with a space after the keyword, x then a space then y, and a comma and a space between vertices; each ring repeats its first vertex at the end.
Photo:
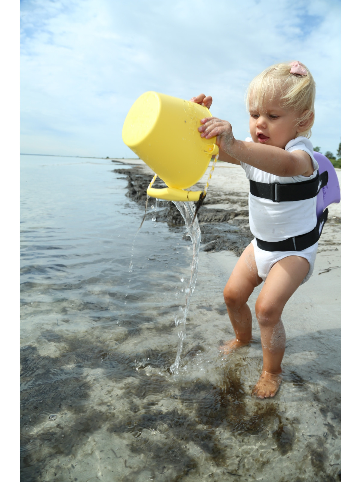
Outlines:
POLYGON ((252 393, 259 398, 273 397, 280 386, 286 340, 281 315, 308 272, 307 259, 287 256, 272 266, 258 295, 256 316, 261 331, 263 370, 252 393))

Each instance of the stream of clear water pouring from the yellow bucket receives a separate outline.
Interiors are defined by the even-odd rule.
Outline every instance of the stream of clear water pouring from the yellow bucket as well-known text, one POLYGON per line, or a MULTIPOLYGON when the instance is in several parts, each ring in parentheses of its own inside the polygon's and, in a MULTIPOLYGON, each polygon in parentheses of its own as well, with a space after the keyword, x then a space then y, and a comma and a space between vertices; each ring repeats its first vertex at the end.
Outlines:
POLYGON ((185 290, 185 307, 182 310, 183 316, 180 318, 177 315, 174 315, 174 322, 176 326, 180 326, 180 332, 178 333, 179 342, 178 342, 178 350, 175 362, 170 366, 170 373, 176 375, 179 372, 179 368, 181 365, 181 353, 183 349, 183 342, 186 337, 186 319, 188 315, 189 306, 191 304, 191 298, 193 295, 195 282, 197 281, 197 273, 198 273, 198 261, 199 261, 199 246, 201 244, 201 230, 198 224, 197 216, 195 214, 195 205, 194 202, 183 202, 183 201, 172 201, 173 204, 177 207, 178 211, 181 213, 182 218, 184 219, 185 227, 187 228, 187 233, 191 237, 192 246, 193 246, 193 259, 191 265, 191 277, 187 288, 185 290), (195 217, 195 218, 194 218, 195 217), (194 218, 194 220, 193 220, 194 218))

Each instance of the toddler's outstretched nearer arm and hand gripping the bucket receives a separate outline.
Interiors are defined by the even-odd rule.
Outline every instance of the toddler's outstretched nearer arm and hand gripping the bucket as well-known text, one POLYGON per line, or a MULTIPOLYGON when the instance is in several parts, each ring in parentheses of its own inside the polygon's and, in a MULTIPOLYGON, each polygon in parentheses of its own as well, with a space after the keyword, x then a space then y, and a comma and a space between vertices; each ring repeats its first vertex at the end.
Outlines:
POLYGON ((201 136, 210 139, 217 136, 219 159, 238 164, 240 161, 267 173, 282 177, 310 176, 313 171, 311 158, 306 151, 287 152, 280 147, 265 146, 234 138, 232 126, 226 120, 215 117, 202 119, 198 128, 201 136))

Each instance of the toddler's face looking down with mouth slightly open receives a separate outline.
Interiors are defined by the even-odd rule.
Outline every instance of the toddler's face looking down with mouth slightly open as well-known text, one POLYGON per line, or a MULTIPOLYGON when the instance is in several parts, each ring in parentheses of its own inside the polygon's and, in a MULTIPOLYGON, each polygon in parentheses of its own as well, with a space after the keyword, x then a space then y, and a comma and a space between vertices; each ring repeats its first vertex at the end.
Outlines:
MULTIPOLYGON (((250 105, 252 106, 252 102, 250 105)), ((297 119, 302 114, 292 109, 284 109, 277 98, 268 102, 261 110, 262 112, 249 110, 249 132, 253 142, 284 149, 286 144, 301 132, 297 127, 297 119)))

